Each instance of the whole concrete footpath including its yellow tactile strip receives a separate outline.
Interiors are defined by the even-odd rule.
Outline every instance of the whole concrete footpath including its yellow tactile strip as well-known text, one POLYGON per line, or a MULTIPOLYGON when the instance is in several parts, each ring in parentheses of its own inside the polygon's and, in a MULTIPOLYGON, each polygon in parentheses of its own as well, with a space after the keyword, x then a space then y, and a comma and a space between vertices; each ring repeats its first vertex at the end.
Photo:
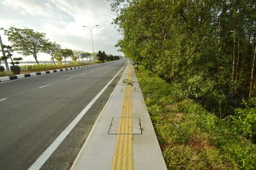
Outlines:
POLYGON ((167 169, 129 61, 71 169, 167 169))

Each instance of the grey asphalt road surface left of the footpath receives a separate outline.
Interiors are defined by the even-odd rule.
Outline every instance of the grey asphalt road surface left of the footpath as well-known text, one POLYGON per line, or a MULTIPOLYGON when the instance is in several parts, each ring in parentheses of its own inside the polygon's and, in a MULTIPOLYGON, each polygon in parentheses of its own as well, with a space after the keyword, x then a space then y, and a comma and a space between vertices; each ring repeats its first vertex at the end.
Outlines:
MULTIPOLYGON (((125 65, 102 65, 0 83, 0 169, 28 169, 125 65)), ((122 73, 122 72, 121 72, 122 73)), ((69 169, 121 73, 42 169, 69 169)))

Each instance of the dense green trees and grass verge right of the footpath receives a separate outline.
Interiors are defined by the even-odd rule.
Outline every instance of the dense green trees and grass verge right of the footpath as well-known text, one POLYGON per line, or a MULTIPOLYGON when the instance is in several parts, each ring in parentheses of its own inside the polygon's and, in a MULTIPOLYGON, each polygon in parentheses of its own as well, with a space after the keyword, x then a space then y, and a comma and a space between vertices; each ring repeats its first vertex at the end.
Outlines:
POLYGON ((256 1, 109 1, 169 169, 255 169, 256 1))

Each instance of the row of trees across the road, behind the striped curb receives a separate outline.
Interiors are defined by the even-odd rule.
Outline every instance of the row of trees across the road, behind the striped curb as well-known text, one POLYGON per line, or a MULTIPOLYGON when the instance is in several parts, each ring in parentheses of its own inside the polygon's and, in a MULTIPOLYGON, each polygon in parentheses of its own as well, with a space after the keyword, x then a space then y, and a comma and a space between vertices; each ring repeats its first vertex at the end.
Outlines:
POLYGON ((20 29, 17 27, 10 27, 9 29, 4 29, 4 34, 8 36, 8 40, 12 43, 12 46, 4 45, 4 51, 6 51, 8 55, 5 58, 1 57, 1 60, 10 58, 12 60, 12 65, 19 64, 18 61, 22 59, 12 59, 13 50, 16 50, 23 56, 32 55, 38 65, 39 52, 51 55, 54 65, 56 64, 54 59, 59 61, 59 64, 61 64, 61 60, 64 59, 67 64, 67 58, 71 58, 76 62, 77 59, 83 60, 82 54, 86 54, 87 61, 89 61, 88 56, 91 55, 89 52, 83 52, 81 50, 62 49, 60 44, 51 42, 45 38, 45 33, 39 33, 29 28, 20 29), (13 60, 16 61, 14 62, 13 60))

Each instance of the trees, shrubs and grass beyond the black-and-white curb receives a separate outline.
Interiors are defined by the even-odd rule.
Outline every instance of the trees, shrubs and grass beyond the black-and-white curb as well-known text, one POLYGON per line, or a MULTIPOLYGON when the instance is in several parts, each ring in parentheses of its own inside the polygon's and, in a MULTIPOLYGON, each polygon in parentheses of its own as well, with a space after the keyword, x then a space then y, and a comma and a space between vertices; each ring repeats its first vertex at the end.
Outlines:
MULTIPOLYGON (((99 59, 99 61, 102 61, 103 63, 104 61, 114 61, 120 59, 119 56, 106 54, 104 51, 99 51, 100 54, 95 55, 91 54, 90 52, 84 52, 81 50, 72 50, 67 48, 63 49, 61 48, 60 44, 49 41, 45 37, 45 33, 39 33, 30 28, 20 29, 12 26, 8 29, 0 29, 4 31, 4 34, 8 36, 8 40, 12 43, 12 46, 3 45, 4 51, 1 52, 3 56, 0 56, 0 66, 1 61, 11 59, 11 64, 13 66, 11 66, 10 69, 14 74, 19 74, 20 72, 39 72, 42 70, 52 70, 58 68, 67 68, 70 66, 88 65, 88 63, 92 63, 92 61, 97 61, 97 59, 99 59), (20 68, 18 65, 19 61, 22 60, 22 58, 13 58, 13 51, 18 52, 25 57, 33 56, 37 63, 37 66, 22 66, 22 68, 20 68), (40 52, 49 54, 51 56, 51 61, 53 65, 40 65, 38 62, 38 54, 40 52), (97 58, 95 56, 97 56, 97 58), (68 58, 72 59, 73 64, 67 64, 68 58), (65 65, 62 65, 63 59, 65 61, 65 65)), ((4 72, 3 66, 0 68, 0 72, 2 72, 0 75, 9 75, 9 73, 4 72)))

